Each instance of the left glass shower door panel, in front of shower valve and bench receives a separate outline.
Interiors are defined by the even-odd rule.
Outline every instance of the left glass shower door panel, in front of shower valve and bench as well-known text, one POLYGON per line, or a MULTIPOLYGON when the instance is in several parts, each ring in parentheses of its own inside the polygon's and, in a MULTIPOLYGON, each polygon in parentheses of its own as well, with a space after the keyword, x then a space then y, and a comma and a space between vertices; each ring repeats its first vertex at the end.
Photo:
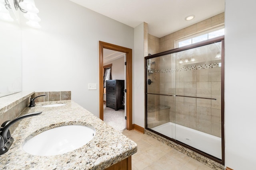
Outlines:
POLYGON ((147 60, 147 128, 175 138, 175 58, 147 60))

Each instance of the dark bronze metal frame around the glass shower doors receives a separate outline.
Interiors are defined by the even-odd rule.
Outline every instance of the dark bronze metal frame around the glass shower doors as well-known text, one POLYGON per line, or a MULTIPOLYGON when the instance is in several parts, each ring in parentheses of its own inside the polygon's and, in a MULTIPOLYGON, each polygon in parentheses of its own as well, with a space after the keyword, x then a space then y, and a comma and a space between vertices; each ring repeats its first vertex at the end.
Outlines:
POLYGON ((201 154, 207 158, 210 158, 211 160, 214 160, 215 162, 218 162, 222 165, 224 165, 225 163, 225 141, 224 141, 224 35, 223 36, 220 36, 220 37, 216 37, 216 38, 212 38, 212 39, 208 39, 208 40, 205 40, 205 41, 201 41, 201 42, 198 42, 198 43, 194 43, 194 44, 191 44, 191 45, 187 45, 187 46, 184 46, 184 47, 179 47, 179 48, 175 48, 175 49, 171 49, 171 50, 168 50, 168 51, 164 51, 164 52, 161 52, 161 53, 157 53, 157 54, 154 54, 154 55, 149 55, 147 57, 144 57, 144 74, 145 74, 145 129, 147 129, 148 131, 152 131, 166 139, 169 139, 170 141, 173 141, 183 147, 186 147, 190 150, 193 150, 194 152, 198 153, 198 154, 201 154), (148 115, 148 108, 147 108, 147 105, 148 105, 148 68, 147 68, 147 64, 148 64, 148 59, 152 59, 152 58, 155 58, 155 57, 160 57, 160 56, 164 56, 164 55, 169 55, 169 54, 172 54, 172 53, 177 53, 177 52, 180 52, 180 51, 185 51, 185 50, 188 50, 188 49, 193 49, 193 48, 196 48, 196 47, 202 47, 202 46, 205 46, 205 45, 210 45, 212 43, 218 43, 218 42, 221 42, 221 143, 222 143, 222 159, 219 159, 219 158, 216 158, 210 154, 207 154, 201 150, 198 150, 198 149, 195 149, 194 147, 191 147, 189 145, 186 145, 182 142, 179 142, 179 141, 176 141, 175 139, 172 139, 170 137, 167 137, 165 135, 162 135, 161 133, 158 133, 150 128, 148 128, 148 125, 147 125, 147 115, 148 115))

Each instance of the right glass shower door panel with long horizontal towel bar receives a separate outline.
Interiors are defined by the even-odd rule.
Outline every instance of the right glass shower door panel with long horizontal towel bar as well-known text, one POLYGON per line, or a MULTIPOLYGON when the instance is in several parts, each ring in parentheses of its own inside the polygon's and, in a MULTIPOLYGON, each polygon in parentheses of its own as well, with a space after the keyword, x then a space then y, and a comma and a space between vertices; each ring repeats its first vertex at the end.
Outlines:
POLYGON ((221 159, 221 42, 180 51, 175 63, 175 139, 221 159))

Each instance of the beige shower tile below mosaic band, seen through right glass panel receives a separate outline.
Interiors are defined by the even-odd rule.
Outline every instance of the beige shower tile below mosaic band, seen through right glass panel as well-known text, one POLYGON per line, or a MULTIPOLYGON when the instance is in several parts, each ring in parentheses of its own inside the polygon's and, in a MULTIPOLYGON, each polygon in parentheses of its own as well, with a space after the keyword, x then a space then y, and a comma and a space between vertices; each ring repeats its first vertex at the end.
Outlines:
POLYGON ((221 137, 221 67, 176 72, 177 124, 221 137))

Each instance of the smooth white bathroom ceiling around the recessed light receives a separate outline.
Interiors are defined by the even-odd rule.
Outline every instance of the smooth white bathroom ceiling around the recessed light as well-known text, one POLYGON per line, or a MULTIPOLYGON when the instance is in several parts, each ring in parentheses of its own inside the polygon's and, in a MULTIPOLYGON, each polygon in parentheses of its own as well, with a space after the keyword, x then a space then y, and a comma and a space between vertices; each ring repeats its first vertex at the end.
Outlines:
POLYGON ((70 0, 116 21, 137 27, 148 23, 158 38, 224 12, 225 0, 70 0), (186 21, 188 15, 195 15, 186 21))

